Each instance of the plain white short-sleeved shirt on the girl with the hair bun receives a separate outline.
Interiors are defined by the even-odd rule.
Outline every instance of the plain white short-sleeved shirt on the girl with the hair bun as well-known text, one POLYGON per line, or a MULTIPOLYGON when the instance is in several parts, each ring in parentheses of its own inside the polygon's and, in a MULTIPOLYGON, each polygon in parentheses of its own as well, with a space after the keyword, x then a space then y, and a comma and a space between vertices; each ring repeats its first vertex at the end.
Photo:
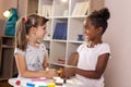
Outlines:
MULTIPOLYGON (((104 53, 110 54, 110 48, 108 44, 99 44, 94 48, 88 48, 87 44, 83 44, 78 48, 79 63, 78 67, 82 70, 94 71, 97 64, 98 57, 104 53)), ((81 75, 76 75, 76 78, 85 83, 88 87, 104 87, 104 77, 99 79, 86 78, 81 75)))

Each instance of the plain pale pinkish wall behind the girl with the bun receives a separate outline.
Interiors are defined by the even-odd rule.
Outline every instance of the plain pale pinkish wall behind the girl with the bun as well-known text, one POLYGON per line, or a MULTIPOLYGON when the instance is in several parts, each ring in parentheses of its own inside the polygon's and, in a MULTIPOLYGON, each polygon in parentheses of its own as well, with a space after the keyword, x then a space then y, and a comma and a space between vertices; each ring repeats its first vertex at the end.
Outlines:
POLYGON ((105 0, 110 10, 104 40, 110 44, 112 59, 105 72, 105 87, 131 87, 131 0, 105 0))

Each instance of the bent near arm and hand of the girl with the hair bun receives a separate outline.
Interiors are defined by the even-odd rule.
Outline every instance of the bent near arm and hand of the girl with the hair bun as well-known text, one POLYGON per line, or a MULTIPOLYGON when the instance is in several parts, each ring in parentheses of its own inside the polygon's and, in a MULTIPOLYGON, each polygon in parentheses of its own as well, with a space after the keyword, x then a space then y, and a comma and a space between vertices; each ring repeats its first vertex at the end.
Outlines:
POLYGON ((106 70, 108 59, 109 59, 109 53, 99 55, 96 64, 96 69, 94 71, 85 71, 78 67, 67 67, 64 69, 63 75, 66 75, 67 77, 70 77, 70 76, 73 76, 74 74, 79 74, 84 77, 97 79, 102 76, 102 74, 106 70))

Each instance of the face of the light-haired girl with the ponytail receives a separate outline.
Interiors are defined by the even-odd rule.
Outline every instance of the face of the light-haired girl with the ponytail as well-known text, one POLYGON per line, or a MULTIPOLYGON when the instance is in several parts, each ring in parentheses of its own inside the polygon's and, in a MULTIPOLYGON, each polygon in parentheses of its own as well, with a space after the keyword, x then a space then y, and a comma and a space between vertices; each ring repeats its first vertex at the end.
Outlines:
POLYGON ((44 36, 46 35, 47 30, 46 30, 46 25, 44 26, 38 26, 36 29, 36 37, 37 39, 43 39, 44 36))

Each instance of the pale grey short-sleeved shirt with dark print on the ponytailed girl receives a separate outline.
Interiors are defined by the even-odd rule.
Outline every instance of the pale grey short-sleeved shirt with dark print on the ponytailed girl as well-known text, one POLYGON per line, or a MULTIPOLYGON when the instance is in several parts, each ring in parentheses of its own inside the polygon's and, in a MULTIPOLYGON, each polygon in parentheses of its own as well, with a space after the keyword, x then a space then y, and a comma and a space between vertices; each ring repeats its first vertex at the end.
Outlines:
POLYGON ((14 50, 14 54, 20 53, 24 55, 27 70, 41 71, 44 70, 44 57, 47 54, 46 48, 43 44, 39 44, 38 48, 27 45, 26 51, 22 51, 17 48, 14 50))

